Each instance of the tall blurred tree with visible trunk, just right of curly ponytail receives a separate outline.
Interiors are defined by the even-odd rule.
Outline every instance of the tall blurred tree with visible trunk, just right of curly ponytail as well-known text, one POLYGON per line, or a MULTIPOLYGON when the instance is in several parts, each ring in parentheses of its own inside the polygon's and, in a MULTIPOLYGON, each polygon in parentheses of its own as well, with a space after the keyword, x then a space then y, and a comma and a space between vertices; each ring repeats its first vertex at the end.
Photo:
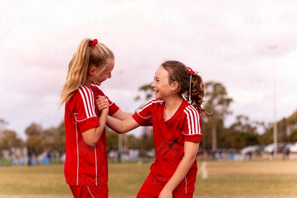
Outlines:
POLYGON ((212 112, 212 115, 206 119, 212 123, 212 150, 215 151, 217 148, 217 124, 231 113, 228 108, 233 99, 228 97, 227 90, 222 83, 213 81, 205 83, 205 95, 207 96, 206 111, 212 112))

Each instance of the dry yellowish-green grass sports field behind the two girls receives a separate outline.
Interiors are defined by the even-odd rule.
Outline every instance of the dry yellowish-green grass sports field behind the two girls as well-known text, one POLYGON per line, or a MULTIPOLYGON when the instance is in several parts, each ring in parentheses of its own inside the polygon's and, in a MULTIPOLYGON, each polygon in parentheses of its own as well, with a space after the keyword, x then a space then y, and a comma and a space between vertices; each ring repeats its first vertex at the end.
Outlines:
MULTIPOLYGON (((136 197, 150 164, 110 163, 110 197, 136 197)), ((199 161, 198 165, 195 197, 297 197, 297 161, 199 161), (202 178, 203 171, 207 178, 202 178)), ((63 169, 63 165, 0 167, 0 197, 71 197, 63 169)))

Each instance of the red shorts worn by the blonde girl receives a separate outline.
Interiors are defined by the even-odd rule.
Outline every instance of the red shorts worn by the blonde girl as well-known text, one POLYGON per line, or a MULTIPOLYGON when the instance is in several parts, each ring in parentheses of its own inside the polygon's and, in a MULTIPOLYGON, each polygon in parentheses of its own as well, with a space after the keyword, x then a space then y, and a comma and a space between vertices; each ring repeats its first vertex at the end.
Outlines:
POLYGON ((70 186, 74 198, 108 198, 108 186, 70 186))

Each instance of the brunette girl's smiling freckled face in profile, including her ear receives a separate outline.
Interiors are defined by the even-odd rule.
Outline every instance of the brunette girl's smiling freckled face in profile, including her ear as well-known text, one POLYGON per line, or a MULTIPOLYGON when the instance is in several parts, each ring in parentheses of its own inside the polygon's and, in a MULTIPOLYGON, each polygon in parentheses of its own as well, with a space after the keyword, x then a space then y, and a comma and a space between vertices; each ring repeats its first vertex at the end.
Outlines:
POLYGON ((155 72, 154 83, 151 84, 151 87, 155 91, 155 98, 166 100, 168 97, 172 97, 172 92, 176 90, 177 85, 176 82, 170 85, 169 73, 160 65, 155 72))

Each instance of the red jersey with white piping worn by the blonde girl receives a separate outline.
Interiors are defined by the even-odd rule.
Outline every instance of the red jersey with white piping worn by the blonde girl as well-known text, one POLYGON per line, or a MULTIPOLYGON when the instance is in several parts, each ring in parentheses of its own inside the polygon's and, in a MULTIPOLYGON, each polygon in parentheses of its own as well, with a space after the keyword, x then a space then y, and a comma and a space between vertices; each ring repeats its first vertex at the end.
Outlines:
MULTIPOLYGON (((91 147, 83 140, 82 133, 100 126, 97 96, 105 96, 94 85, 80 85, 75 94, 65 104, 66 160, 64 174, 69 186, 99 186, 108 181, 107 146, 105 129, 95 146, 91 147)), ((108 100, 108 115, 119 110, 108 100)))

